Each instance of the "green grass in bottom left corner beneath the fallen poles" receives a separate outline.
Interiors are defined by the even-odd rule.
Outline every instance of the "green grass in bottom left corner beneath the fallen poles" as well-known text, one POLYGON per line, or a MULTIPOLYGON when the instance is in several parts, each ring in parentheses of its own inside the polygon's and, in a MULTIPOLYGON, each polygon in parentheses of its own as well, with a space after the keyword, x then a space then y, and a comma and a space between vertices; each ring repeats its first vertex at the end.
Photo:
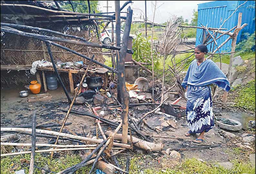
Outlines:
MULTIPOLYGON (((17 170, 24 169, 25 173, 28 173, 29 170, 29 162, 30 162, 30 154, 24 155, 16 155, 16 156, 7 156, 1 158, 1 173, 10 173, 13 174, 17 170), (22 161, 27 161, 28 165, 21 166, 21 159, 25 159, 22 161)), ((59 158, 51 159, 50 155, 43 156, 42 154, 36 153, 35 154, 35 163, 37 167, 44 168, 47 164, 49 166, 49 170, 54 172, 60 172, 68 167, 71 167, 79 162, 82 159, 79 155, 72 154, 72 155, 64 155, 59 158)), ((91 165, 85 166, 76 171, 76 174, 86 174, 90 171, 91 165)), ((95 171, 94 171, 95 172, 95 171)), ((34 168, 34 174, 41 174, 42 171, 39 169, 34 168)))

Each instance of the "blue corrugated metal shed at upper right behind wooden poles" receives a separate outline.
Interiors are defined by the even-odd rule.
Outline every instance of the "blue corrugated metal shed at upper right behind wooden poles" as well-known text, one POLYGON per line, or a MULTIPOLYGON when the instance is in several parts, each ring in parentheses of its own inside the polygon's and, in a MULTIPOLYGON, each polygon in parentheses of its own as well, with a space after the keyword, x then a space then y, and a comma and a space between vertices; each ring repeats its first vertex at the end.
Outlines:
MULTIPOLYGON (((198 4, 198 20, 197 26, 201 26, 201 23, 204 26, 219 28, 224 20, 226 20, 231 13, 245 1, 213 1, 203 4, 198 4)), ((238 14, 242 13, 242 24, 247 23, 248 25, 243 28, 237 37, 237 43, 242 39, 242 33, 253 33, 255 32, 255 1, 247 1, 238 10, 228 19, 222 28, 227 28, 230 30, 234 26, 237 25, 238 22, 238 14)), ((224 30, 227 31, 227 30, 224 30)), ((234 30, 233 30, 234 31, 234 30)), ((207 33, 206 33, 207 34, 207 33)), ((217 37, 220 34, 217 34, 217 37)), ((217 44, 220 45, 223 41, 225 41, 229 36, 224 35, 220 39, 217 40, 217 44)), ((197 29, 196 31, 196 45, 202 43, 203 40, 203 30, 197 29)), ((231 40, 229 40, 220 51, 230 51, 231 50, 231 40)), ((213 42, 208 46, 209 51, 213 51, 213 42)), ((216 47, 214 48, 216 49, 216 47)))

